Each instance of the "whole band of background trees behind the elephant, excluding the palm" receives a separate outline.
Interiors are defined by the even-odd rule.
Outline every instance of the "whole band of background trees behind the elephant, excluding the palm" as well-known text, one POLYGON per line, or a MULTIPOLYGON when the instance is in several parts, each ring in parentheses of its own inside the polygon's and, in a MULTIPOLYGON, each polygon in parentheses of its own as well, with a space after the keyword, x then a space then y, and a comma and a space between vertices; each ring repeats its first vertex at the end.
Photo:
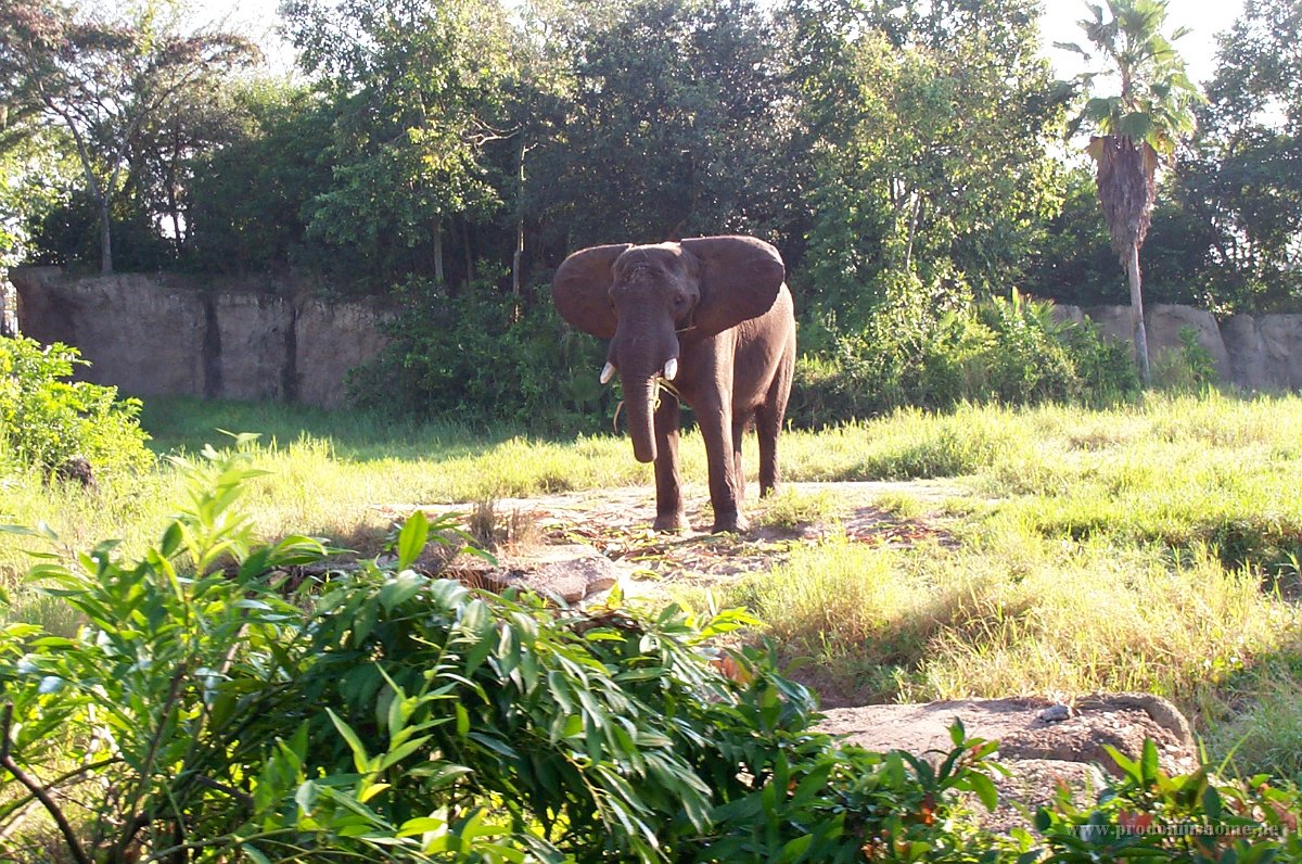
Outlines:
MULTIPOLYGON (((1096 184, 1066 155, 1079 142, 1062 145, 1087 94, 1052 78, 1032 0, 286 0, 292 82, 232 76, 243 42, 154 8, 0 3, 5 254, 91 262, 100 224, 124 268, 397 295, 406 332, 366 391, 417 412, 556 429, 608 401, 586 383, 595 347, 535 351, 559 332, 552 270, 595 242, 773 241, 822 369, 962 341, 935 322, 1014 289, 1128 297, 1096 184), (48 122, 82 102, 92 128, 48 122), (506 349, 453 356, 473 341, 506 349), (490 367, 536 386, 496 399, 490 367)), ((1150 302, 1297 306, 1299 27, 1295 0, 1253 0, 1223 35, 1197 133, 1155 188, 1150 302)), ((1095 96, 1087 112, 1116 103, 1095 96)))

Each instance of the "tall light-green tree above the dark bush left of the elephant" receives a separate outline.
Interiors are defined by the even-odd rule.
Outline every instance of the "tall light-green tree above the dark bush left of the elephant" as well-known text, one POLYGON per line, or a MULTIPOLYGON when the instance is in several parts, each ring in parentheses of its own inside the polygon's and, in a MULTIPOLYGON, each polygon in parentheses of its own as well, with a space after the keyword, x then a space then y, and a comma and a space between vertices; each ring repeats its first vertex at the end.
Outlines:
POLYGON ((286 0, 281 12, 333 111, 323 152, 333 181, 306 205, 310 235, 348 250, 358 271, 432 270, 447 284, 444 236, 456 231, 469 281, 473 225, 501 203, 484 147, 509 133, 504 7, 286 0))

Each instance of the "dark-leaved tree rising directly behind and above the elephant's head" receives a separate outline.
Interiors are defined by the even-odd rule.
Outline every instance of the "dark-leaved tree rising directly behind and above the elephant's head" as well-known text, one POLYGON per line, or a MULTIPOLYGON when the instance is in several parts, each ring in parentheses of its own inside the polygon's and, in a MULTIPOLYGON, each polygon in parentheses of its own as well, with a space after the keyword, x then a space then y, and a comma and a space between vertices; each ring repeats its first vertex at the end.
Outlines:
POLYGON ((530 205, 562 249, 693 233, 780 238, 796 203, 790 91, 753 0, 569 0, 559 133, 530 205))

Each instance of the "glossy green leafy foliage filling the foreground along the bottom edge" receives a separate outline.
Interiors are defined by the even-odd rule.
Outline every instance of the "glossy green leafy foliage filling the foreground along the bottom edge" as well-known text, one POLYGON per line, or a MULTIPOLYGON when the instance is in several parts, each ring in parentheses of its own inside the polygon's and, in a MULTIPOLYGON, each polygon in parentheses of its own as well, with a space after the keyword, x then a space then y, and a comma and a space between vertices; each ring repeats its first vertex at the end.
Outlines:
POLYGON ((936 762, 840 744, 811 727, 809 693, 768 654, 713 645, 751 623, 743 615, 647 615, 617 599, 556 609, 432 579, 410 569, 427 541, 460 540, 419 513, 395 536, 391 563, 302 579, 327 550, 301 536, 255 542, 238 506, 251 472, 238 455, 206 456, 182 464, 190 500, 139 556, 105 542, 31 569, 85 626, 76 639, 0 631, 3 854, 109 864, 1302 854, 1294 790, 1168 778, 1155 751, 1118 760, 1125 777, 1100 805, 1042 812, 1042 841, 990 834, 970 808, 996 801, 993 742, 956 727, 936 762), (1134 830, 1137 820, 1167 830, 1134 830))

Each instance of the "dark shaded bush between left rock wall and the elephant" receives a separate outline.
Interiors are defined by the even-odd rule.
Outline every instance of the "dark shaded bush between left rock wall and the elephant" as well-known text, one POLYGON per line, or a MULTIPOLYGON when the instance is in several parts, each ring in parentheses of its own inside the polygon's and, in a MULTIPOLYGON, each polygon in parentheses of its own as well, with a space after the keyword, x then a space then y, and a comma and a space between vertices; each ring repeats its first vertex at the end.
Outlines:
POLYGON ((549 298, 501 296, 488 280, 449 297, 419 279, 400 296, 389 348, 352 382, 359 404, 539 433, 608 427, 602 347, 568 330, 549 298))

